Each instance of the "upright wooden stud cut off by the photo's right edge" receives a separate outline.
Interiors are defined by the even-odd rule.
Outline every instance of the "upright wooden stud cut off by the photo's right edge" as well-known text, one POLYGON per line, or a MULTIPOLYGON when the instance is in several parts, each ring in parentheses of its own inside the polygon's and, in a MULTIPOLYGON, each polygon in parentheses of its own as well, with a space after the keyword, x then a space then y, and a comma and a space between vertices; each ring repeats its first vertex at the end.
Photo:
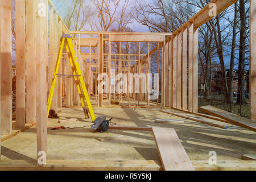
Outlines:
POLYGON ((256 121, 256 0, 250 0, 250 117, 256 121))

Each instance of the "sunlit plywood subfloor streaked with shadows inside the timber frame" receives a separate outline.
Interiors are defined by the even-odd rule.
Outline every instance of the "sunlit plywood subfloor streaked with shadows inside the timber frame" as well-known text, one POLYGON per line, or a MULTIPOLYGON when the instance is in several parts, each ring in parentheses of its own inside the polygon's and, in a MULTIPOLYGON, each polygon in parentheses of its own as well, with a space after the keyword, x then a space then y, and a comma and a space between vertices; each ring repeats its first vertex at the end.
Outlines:
MULTIPOLYGON (((176 111, 176 110, 172 110, 176 111)), ((102 114, 118 126, 171 127, 174 128, 192 161, 208 161, 210 151, 216 151, 217 160, 240 162, 243 154, 256 150, 256 135, 253 131, 238 126, 213 121, 228 126, 228 130, 205 125, 155 109, 96 108, 96 116, 102 114), (155 123, 155 119, 181 119, 185 124, 155 123)), ((182 113, 176 111, 177 113, 182 113)), ((187 114, 186 115, 193 115, 187 114)), ((77 122, 57 123, 58 119, 49 119, 48 127, 82 127, 91 125, 90 119, 84 119, 81 108, 64 108, 59 113, 61 119, 76 118, 77 122)), ((195 115, 193 115, 196 117, 195 115)), ((151 131, 109 130, 107 133, 94 133, 86 129, 48 130, 48 160, 155 160, 160 163, 158 150, 151 131), (122 136, 122 137, 118 137, 122 136), (100 142, 96 137, 113 137, 100 142)), ((2 144, 2 160, 36 160, 36 127, 32 127, 5 140, 2 144)))

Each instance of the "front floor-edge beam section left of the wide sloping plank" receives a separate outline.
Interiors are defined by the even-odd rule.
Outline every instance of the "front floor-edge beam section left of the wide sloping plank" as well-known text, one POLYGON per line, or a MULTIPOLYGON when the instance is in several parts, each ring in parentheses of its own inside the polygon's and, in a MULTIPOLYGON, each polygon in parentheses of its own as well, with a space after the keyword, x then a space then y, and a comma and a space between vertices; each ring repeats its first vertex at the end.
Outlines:
POLYGON ((48 160, 43 167, 24 160, 0 161, 0 171, 161 171, 154 160, 48 160))

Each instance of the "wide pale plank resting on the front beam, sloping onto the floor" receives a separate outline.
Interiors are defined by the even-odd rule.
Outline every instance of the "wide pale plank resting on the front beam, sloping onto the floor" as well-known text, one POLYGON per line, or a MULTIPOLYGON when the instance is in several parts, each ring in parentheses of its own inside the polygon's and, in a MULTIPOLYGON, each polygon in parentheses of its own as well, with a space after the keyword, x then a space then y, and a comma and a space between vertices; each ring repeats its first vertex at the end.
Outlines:
POLYGON ((174 129, 152 128, 165 171, 195 171, 174 129))

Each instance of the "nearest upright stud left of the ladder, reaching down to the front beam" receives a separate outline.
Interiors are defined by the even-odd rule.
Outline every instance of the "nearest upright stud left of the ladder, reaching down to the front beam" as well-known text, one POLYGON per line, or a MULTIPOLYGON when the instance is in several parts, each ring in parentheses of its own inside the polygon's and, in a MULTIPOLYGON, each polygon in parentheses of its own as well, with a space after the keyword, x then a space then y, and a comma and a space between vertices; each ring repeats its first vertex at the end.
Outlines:
MULTIPOLYGON (((48 7, 48 1, 37 0, 36 7, 39 3, 44 3, 48 7)), ((39 9, 37 14, 39 14, 39 9)), ((40 160, 43 154, 47 154, 47 88, 46 88, 46 50, 48 47, 47 37, 47 16, 38 15, 36 17, 36 120, 37 120, 37 156, 40 160)), ((38 163, 38 166, 43 164, 38 163)))

